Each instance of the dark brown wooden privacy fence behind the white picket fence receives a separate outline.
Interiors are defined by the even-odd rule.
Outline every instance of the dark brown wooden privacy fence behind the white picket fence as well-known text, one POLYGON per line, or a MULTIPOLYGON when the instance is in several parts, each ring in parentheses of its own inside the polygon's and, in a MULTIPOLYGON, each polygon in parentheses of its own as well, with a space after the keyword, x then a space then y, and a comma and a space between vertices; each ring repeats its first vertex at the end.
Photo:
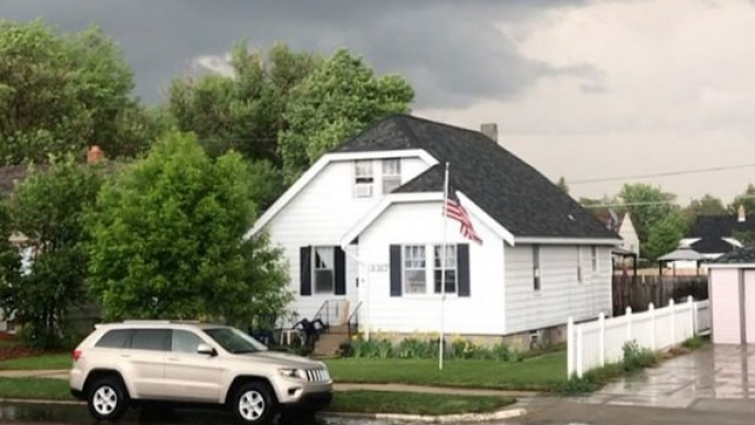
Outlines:
POLYGON ((613 316, 621 316, 626 307, 644 312, 647 306, 668 305, 670 299, 682 303, 691 296, 708 299, 708 276, 614 275, 612 282, 613 316))

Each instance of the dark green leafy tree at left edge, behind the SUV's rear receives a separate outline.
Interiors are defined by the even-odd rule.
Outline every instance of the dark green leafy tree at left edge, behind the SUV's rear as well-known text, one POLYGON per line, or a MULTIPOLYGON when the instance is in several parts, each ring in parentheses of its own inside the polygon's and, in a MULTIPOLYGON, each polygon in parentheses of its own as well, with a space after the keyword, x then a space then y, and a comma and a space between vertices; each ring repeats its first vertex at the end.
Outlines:
POLYGON ((86 301, 84 211, 97 197, 98 168, 70 155, 53 160, 46 171, 31 171, 10 200, 13 229, 29 238, 34 259, 18 285, 2 287, 2 308, 23 324, 31 346, 59 344, 66 315, 86 301))

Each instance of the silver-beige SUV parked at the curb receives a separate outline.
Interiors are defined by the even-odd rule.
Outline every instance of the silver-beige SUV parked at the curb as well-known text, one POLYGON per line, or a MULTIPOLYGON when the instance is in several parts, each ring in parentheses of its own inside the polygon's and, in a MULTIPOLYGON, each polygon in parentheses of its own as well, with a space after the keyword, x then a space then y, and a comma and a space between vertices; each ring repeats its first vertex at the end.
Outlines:
POLYGON ((286 407, 330 403, 327 367, 273 352, 239 329, 196 323, 97 325, 73 352, 74 396, 97 419, 117 419, 132 403, 226 405, 241 423, 265 424, 286 407))

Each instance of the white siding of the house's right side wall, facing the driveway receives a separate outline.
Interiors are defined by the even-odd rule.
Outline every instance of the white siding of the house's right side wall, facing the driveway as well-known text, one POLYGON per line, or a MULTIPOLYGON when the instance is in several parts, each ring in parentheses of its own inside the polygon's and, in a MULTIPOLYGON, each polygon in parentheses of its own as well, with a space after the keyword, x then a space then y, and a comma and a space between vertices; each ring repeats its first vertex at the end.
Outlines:
POLYGON ((533 285, 533 246, 506 247, 506 331, 508 334, 611 314, 611 248, 598 247, 592 271, 591 248, 582 247, 582 283, 577 279, 577 246, 540 246, 540 290, 533 285))

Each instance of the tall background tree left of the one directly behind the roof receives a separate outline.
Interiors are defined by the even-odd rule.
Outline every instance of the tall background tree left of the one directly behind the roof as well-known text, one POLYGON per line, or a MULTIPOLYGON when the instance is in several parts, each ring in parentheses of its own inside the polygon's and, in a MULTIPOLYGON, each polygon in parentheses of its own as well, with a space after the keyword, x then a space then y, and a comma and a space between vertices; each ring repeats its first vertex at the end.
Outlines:
POLYGON ((318 61, 285 44, 270 48, 266 57, 237 44, 231 54, 232 76, 175 79, 168 111, 178 129, 197 134, 212 156, 236 150, 248 160, 280 166, 277 138, 287 127, 283 111, 289 92, 318 61))

